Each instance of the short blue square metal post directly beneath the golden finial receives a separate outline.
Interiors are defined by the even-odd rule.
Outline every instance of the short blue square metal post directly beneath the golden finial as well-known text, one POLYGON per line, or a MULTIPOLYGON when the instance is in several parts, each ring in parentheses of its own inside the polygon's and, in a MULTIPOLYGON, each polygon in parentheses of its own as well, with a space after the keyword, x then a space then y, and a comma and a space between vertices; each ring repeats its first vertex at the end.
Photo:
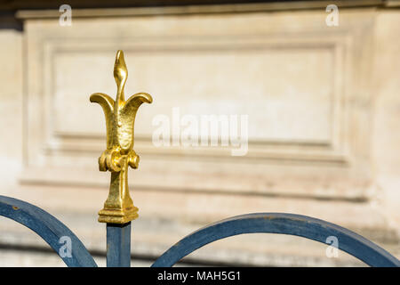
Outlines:
POLYGON ((107 267, 131 267, 131 222, 107 224, 107 267))

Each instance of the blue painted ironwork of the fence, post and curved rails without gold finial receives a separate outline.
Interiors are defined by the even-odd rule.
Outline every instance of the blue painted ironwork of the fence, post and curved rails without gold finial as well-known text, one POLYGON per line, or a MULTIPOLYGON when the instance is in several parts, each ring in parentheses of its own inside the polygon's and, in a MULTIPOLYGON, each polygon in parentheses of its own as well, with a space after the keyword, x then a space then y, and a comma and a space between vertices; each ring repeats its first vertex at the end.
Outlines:
MULTIPOLYGON (((97 266, 89 251, 76 235, 58 219, 41 208, 20 199, 0 196, 0 216, 6 216, 27 226, 44 239, 68 266, 97 266), (59 240, 71 239, 71 254, 65 256, 59 240)), ((400 261, 370 240, 340 227, 309 216, 284 213, 255 213, 234 216, 210 224, 189 234, 168 249, 154 267, 172 266, 198 248, 215 240, 244 233, 281 233, 325 242, 329 236, 337 237, 338 248, 371 266, 400 266, 400 261)), ((131 265, 131 223, 107 224, 107 265, 131 265)))

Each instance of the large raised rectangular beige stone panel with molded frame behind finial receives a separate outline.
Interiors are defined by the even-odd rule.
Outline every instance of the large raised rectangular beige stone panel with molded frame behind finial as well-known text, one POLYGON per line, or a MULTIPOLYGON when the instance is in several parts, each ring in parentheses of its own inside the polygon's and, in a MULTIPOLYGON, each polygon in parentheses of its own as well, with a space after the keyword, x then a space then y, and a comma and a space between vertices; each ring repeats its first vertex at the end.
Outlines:
POLYGON ((142 163, 131 174, 134 185, 366 199, 372 174, 362 122, 370 118, 371 80, 361 70, 371 66, 372 15, 343 12, 333 29, 324 12, 77 19, 71 27, 27 20, 28 167, 21 178, 99 181, 92 157, 104 148, 105 126, 87 96, 115 93, 109 67, 124 49, 127 92, 155 98, 136 120, 142 163), (171 117, 174 107, 195 116, 250 115, 249 152, 156 148, 153 118, 171 117))

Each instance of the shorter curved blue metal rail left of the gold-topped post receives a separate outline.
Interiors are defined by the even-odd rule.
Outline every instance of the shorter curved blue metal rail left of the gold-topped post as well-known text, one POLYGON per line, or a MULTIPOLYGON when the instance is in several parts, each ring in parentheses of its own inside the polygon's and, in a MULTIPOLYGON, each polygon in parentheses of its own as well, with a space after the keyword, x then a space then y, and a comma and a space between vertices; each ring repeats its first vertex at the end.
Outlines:
POLYGON ((66 265, 72 267, 97 266, 81 240, 66 225, 43 209, 20 199, 0 195, 0 216, 6 216, 36 232, 59 256, 60 248, 64 246, 61 238, 68 237, 71 240, 71 255, 60 256, 66 265))

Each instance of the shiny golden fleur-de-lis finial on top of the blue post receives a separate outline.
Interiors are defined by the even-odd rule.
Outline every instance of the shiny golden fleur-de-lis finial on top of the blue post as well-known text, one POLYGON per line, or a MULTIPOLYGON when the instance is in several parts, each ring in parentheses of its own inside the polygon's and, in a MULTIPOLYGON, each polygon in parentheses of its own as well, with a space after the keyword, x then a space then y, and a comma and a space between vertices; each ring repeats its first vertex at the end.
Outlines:
POLYGON ((100 171, 111 172, 108 199, 99 212, 99 222, 125 224, 138 216, 138 208, 133 206, 128 189, 128 166, 137 168, 139 156, 133 151, 134 122, 136 112, 144 102, 153 99, 147 93, 124 98, 124 85, 128 77, 128 69, 123 51, 116 53, 114 78, 116 79, 116 101, 108 94, 95 93, 91 102, 100 104, 106 116, 107 150, 99 158, 100 171))

